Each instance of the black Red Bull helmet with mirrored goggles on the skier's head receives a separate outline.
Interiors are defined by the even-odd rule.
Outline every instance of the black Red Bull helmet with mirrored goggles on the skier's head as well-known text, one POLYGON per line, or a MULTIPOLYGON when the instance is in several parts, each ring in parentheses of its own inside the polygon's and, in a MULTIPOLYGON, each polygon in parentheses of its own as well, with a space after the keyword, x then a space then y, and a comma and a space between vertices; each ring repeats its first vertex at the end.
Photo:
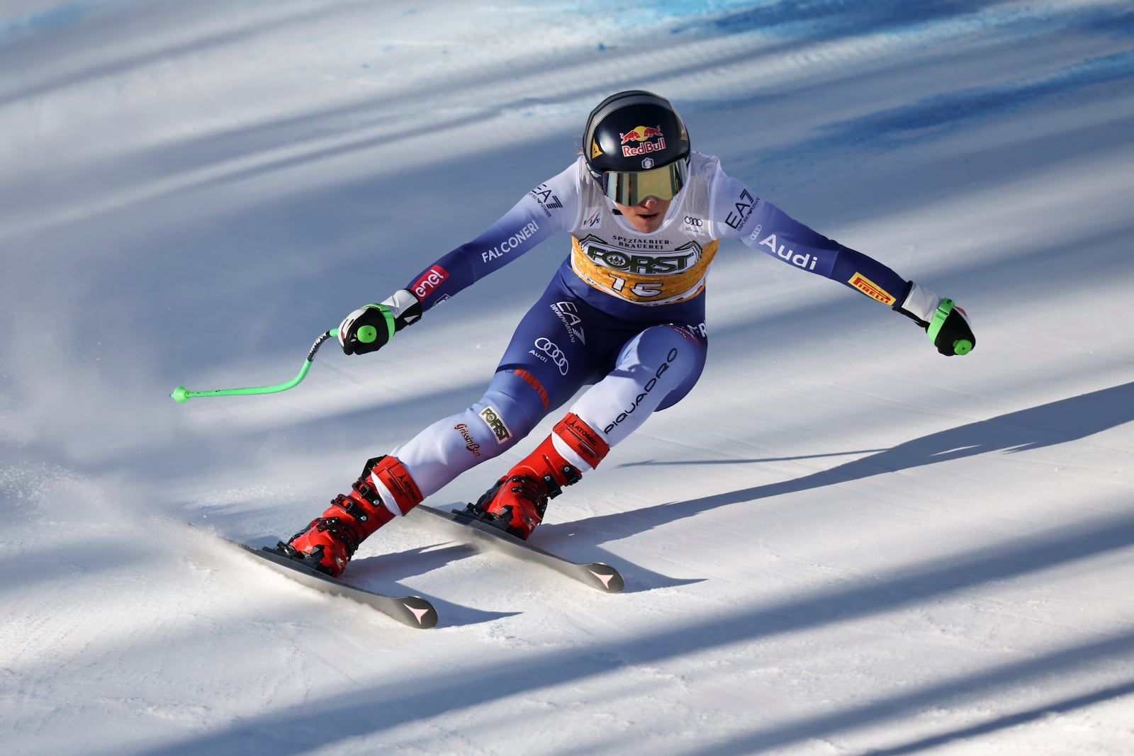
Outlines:
POLYGON ((631 90, 591 111, 583 154, 591 176, 615 202, 636 205, 651 195, 670 199, 685 185, 689 136, 669 100, 631 90))

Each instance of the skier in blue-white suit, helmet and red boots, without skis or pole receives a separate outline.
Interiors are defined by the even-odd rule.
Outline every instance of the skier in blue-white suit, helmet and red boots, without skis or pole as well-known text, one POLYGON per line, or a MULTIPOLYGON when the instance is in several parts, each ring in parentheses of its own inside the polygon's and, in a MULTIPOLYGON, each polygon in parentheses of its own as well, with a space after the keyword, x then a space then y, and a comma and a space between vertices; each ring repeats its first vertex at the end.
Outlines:
POLYGON ((932 325, 943 355, 975 343, 950 300, 793 220, 727 176, 717 158, 691 151, 684 122, 657 94, 619 92, 599 103, 581 152, 484 233, 342 321, 346 354, 374 351, 553 232, 570 233, 570 254, 521 320, 484 396, 369 460, 350 492, 280 543, 280 553, 341 575, 364 538, 510 449, 591 385, 531 455, 469 504, 472 516, 527 538, 549 499, 696 383, 709 342, 705 275, 722 238, 826 275, 922 329, 932 325))

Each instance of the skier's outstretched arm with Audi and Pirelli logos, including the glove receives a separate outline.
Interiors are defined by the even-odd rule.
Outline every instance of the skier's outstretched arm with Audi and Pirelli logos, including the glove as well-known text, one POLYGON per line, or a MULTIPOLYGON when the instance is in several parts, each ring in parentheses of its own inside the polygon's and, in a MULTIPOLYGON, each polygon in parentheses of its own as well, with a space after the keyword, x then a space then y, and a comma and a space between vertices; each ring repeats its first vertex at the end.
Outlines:
POLYGON ((712 202, 719 236, 739 239, 781 262, 824 275, 889 305, 925 329, 942 355, 964 355, 976 345, 965 311, 951 299, 939 297, 873 257, 812 230, 758 197, 743 181, 720 173, 712 202))

